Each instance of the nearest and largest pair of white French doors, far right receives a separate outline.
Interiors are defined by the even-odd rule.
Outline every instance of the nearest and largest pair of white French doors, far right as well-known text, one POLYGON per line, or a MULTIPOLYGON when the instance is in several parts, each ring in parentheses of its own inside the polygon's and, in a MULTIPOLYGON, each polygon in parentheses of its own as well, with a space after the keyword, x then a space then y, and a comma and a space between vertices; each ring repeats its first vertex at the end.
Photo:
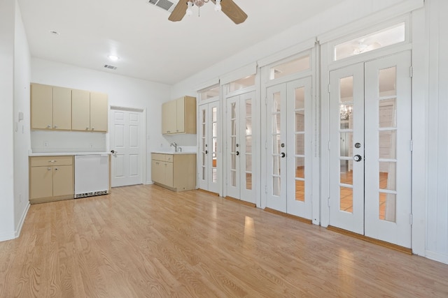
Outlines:
POLYGON ((330 72, 330 225, 411 246, 411 54, 330 72))

